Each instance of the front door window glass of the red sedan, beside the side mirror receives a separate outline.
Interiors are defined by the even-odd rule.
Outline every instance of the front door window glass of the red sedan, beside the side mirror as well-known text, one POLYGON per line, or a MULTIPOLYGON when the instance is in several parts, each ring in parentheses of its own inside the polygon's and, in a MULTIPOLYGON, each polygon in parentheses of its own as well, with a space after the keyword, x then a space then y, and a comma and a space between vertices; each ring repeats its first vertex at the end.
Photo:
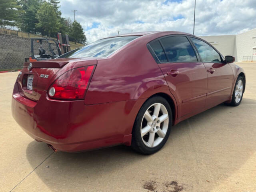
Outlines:
POLYGON ((206 42, 193 37, 191 37, 191 40, 194 42, 203 62, 221 62, 220 54, 206 42))

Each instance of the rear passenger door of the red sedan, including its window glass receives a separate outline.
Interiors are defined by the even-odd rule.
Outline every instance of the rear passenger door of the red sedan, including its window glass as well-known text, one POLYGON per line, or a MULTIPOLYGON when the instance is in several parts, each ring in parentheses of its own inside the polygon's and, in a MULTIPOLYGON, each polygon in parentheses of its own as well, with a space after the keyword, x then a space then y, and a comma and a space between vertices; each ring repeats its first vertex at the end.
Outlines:
POLYGON ((188 38, 167 36, 150 42, 150 47, 178 103, 178 118, 201 112, 206 100, 207 74, 188 38))

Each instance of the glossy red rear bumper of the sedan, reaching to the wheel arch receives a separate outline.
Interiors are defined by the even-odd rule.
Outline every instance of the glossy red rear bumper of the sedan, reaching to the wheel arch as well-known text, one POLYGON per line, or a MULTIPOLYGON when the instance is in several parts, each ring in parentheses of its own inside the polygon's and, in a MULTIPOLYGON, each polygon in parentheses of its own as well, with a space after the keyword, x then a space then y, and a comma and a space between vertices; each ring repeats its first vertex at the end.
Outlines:
MULTIPOLYGON (((15 88, 14 88, 15 90, 15 88)), ((32 138, 67 152, 131 144, 136 110, 143 100, 84 105, 83 100, 51 100, 43 92, 34 102, 18 92, 12 116, 32 138)))

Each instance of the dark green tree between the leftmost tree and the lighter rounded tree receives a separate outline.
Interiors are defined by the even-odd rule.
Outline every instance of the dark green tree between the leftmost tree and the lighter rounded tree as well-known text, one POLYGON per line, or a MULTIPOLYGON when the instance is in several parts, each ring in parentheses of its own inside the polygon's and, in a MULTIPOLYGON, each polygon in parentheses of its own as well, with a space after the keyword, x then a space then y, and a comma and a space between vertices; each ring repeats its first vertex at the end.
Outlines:
POLYGON ((40 28, 36 28, 36 24, 38 23, 36 13, 40 6, 42 6, 42 0, 19 0, 18 3, 22 9, 19 28, 24 32, 41 32, 40 28))

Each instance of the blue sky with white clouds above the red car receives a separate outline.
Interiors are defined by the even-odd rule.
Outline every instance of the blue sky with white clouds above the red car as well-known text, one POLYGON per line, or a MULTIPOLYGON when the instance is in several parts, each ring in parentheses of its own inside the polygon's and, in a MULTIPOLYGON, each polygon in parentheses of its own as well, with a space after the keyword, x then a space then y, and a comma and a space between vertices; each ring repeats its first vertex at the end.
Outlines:
MULTIPOLYGON (((88 42, 142 31, 193 34, 194 0, 60 0, 62 17, 76 20, 88 42)), ((195 35, 239 34, 256 28, 256 0, 196 0, 195 35)))

